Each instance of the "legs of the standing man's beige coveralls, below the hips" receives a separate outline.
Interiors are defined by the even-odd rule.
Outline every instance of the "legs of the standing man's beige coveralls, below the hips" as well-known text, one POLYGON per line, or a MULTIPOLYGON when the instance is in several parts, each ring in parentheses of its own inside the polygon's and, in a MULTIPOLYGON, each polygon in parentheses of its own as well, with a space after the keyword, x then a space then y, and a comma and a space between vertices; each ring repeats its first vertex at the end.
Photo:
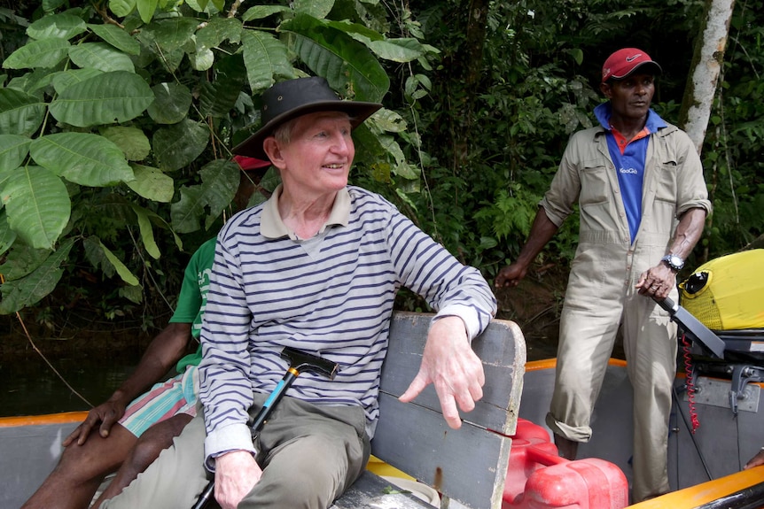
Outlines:
MULTIPOLYGON (((634 289, 624 293, 607 305, 595 298, 581 305, 565 301, 555 389, 546 422, 559 436, 589 442, 589 420, 621 327, 634 389, 632 497, 639 502, 670 490, 667 443, 676 372, 676 326, 651 298, 638 295, 634 289)), ((675 302, 676 290, 672 298, 675 302)))

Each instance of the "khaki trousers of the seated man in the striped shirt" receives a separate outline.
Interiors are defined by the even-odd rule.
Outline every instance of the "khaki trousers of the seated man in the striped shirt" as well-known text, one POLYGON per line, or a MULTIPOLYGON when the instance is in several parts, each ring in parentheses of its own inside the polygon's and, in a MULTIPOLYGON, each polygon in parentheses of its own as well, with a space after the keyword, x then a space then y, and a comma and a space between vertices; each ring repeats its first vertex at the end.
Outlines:
MULTIPOLYGON (((252 413, 266 397, 255 395, 252 413)), ((203 466, 206 433, 199 416, 151 467, 103 507, 191 509, 212 478, 203 466)), ((238 507, 330 506, 363 472, 369 459, 365 428, 360 406, 316 406, 284 397, 255 443, 258 463, 263 467, 261 480, 238 507)))

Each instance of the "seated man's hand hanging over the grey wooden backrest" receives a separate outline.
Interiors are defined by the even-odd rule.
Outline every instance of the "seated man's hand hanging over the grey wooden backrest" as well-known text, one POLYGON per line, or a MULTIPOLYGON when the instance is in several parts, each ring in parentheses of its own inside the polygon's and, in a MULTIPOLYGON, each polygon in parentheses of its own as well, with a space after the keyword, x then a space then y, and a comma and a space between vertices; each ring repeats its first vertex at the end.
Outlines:
POLYGON ((440 399, 443 417, 451 428, 462 426, 459 411, 470 412, 483 397, 486 375, 480 359, 472 351, 464 322, 456 316, 436 320, 430 327, 419 373, 398 399, 413 401, 430 383, 440 399))

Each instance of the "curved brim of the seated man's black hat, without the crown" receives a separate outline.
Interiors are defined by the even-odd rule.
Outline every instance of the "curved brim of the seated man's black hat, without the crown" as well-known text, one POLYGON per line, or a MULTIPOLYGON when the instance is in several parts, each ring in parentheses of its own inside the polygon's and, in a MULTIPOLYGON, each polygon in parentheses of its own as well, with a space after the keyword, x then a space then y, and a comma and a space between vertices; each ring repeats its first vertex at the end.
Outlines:
POLYGON ((311 104, 305 104, 299 108, 294 108, 289 112, 284 112, 269 120, 267 124, 261 126, 257 132, 248 137, 242 143, 233 148, 233 153, 250 158, 258 158, 268 161, 268 154, 262 149, 262 143, 273 134, 273 131, 281 124, 296 119, 302 115, 316 112, 346 112, 350 116, 350 126, 360 126, 363 120, 368 119, 374 112, 382 107, 378 103, 363 103, 361 101, 321 101, 311 104))

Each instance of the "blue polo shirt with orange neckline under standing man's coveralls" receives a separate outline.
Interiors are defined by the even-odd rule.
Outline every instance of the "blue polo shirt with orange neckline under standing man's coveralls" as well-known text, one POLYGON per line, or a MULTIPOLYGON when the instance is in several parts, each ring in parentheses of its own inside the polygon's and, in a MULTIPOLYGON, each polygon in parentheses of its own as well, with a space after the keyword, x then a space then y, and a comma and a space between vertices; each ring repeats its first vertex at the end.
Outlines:
POLYGON ((628 230, 631 242, 634 243, 636 232, 642 221, 642 192, 644 181, 644 163, 647 158, 647 146, 650 134, 661 127, 667 127, 659 114, 650 110, 647 114, 643 132, 626 142, 624 137, 610 125, 612 106, 608 103, 598 105, 594 109, 596 120, 607 131, 607 147, 610 151, 613 165, 616 168, 620 196, 626 210, 628 230))

